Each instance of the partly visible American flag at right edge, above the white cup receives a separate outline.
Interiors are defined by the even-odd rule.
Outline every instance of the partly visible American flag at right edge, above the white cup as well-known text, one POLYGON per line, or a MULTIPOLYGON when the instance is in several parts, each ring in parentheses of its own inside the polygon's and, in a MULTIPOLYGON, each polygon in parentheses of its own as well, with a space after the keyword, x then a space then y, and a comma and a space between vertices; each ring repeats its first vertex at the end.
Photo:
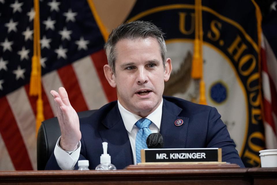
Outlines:
POLYGON ((263 20, 261 45, 265 145, 277 148, 277 1, 263 20))

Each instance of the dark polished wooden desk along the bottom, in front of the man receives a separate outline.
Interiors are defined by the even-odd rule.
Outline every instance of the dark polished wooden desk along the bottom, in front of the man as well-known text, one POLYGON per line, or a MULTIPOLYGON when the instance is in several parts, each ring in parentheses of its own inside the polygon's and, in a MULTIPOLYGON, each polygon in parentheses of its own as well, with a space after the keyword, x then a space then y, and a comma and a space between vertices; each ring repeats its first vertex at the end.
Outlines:
MULTIPOLYGON (((131 167, 132 168, 132 167, 131 167)), ((277 168, 169 168, 116 171, 2 171, 0 184, 277 184, 277 168)))

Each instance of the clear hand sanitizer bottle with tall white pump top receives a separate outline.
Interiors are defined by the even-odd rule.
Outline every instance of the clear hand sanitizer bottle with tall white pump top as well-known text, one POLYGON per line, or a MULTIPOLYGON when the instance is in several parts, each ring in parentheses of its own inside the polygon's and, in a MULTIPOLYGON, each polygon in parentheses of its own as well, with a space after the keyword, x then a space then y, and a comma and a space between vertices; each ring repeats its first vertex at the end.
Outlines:
POLYGON ((108 143, 103 142, 103 154, 100 156, 100 164, 95 170, 116 170, 115 165, 111 164, 111 156, 107 153, 108 143))

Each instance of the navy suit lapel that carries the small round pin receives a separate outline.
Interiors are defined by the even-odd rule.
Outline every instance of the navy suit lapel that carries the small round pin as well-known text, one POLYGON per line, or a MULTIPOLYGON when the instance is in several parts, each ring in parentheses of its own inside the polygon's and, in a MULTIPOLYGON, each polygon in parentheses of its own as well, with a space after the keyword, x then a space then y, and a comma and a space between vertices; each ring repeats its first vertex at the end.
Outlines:
POLYGON ((189 118, 179 116, 181 111, 177 105, 163 99, 160 133, 164 139, 164 148, 186 147, 189 118), (175 126, 177 119, 183 120, 183 124, 175 126))

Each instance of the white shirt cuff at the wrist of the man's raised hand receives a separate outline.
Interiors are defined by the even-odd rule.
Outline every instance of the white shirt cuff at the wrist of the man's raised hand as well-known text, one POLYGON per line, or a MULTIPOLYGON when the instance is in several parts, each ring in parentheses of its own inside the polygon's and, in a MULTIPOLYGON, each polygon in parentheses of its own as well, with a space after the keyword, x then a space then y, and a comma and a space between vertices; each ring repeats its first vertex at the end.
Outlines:
POLYGON ((54 149, 55 158, 62 170, 72 170, 80 156, 81 142, 78 142, 77 148, 74 151, 65 151, 59 146, 60 139, 61 137, 59 137, 54 149))

